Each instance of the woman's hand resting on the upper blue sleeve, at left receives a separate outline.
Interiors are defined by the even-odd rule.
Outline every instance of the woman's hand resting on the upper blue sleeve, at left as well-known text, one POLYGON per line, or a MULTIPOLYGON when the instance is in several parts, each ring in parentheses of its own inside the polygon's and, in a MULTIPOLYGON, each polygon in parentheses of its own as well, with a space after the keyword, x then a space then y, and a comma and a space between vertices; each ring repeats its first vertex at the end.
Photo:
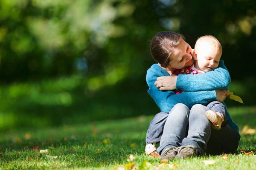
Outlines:
POLYGON ((172 76, 162 76, 158 77, 157 81, 154 83, 159 90, 175 90, 177 82, 177 75, 172 74, 172 76))

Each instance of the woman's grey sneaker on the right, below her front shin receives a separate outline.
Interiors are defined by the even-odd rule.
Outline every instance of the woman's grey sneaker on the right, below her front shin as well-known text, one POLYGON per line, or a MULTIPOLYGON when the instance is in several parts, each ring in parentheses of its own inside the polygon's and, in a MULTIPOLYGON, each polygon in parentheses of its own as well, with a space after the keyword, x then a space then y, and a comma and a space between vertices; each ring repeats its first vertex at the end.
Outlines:
POLYGON ((197 156, 196 149, 193 145, 185 145, 177 148, 177 155, 175 158, 184 159, 192 156, 197 156))

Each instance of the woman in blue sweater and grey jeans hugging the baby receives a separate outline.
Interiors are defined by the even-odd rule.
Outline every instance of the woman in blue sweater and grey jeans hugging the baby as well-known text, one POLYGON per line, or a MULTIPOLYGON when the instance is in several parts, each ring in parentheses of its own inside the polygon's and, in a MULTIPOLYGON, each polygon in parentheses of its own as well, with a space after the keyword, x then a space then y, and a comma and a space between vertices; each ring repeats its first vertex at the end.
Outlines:
POLYGON ((205 152, 236 151, 239 130, 227 110, 227 125, 221 130, 213 130, 204 114, 209 110, 204 105, 215 100, 223 102, 228 95, 227 91, 218 90, 227 89, 230 84, 230 75, 223 61, 219 68, 204 74, 172 75, 175 69, 191 66, 193 60, 191 47, 183 36, 170 31, 159 32, 153 37, 151 54, 158 64, 147 71, 148 94, 162 112, 151 121, 146 143, 160 141, 157 152, 161 161, 205 152), (174 89, 186 92, 174 95, 175 92, 171 91, 174 89), (157 128, 163 124, 163 129, 157 128))

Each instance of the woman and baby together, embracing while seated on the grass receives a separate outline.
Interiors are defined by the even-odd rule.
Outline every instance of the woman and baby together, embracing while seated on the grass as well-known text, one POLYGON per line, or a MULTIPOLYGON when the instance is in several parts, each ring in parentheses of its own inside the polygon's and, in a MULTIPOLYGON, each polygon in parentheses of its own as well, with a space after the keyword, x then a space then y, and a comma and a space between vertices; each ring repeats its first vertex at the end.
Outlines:
POLYGON ((236 152, 239 128, 224 104, 230 74, 219 41, 202 36, 192 49, 181 34, 163 31, 150 49, 157 64, 147 71, 148 94, 161 112, 148 127, 145 153, 165 162, 236 152))

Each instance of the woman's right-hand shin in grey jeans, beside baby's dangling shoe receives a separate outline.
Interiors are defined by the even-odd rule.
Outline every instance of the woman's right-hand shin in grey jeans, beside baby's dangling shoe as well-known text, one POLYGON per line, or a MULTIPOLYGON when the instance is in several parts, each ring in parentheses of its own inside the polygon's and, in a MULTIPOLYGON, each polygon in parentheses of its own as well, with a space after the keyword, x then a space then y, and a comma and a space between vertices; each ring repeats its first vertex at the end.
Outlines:
POLYGON ((203 154, 206 150, 207 142, 211 134, 211 125, 205 112, 209 108, 196 104, 189 113, 189 131, 188 136, 183 139, 181 145, 192 145, 196 149, 196 154, 203 154))

